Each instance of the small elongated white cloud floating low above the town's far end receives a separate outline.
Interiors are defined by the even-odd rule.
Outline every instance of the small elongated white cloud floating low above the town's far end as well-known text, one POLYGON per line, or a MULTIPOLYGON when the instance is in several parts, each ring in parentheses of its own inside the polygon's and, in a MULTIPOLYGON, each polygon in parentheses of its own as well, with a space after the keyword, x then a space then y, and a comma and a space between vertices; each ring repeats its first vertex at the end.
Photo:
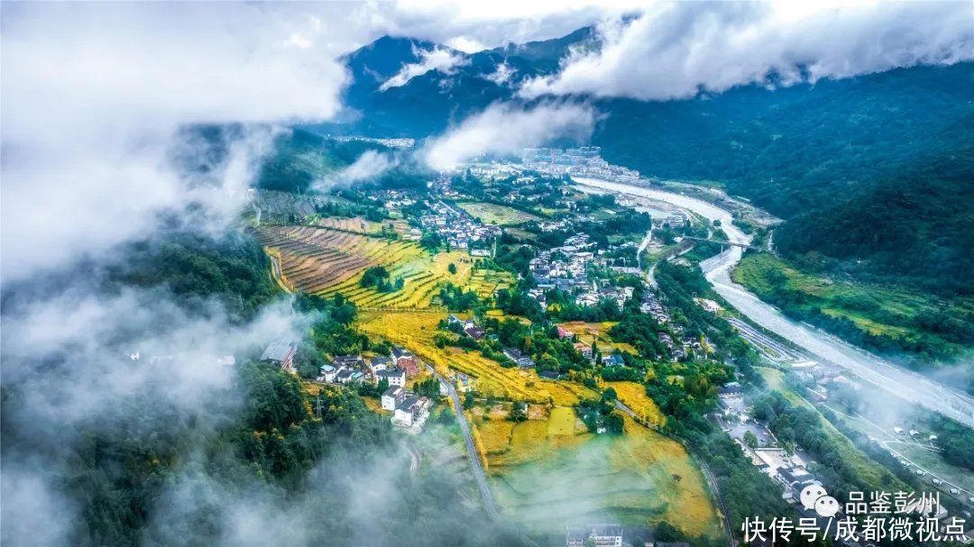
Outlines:
POLYGON ((449 169, 484 154, 519 154, 555 138, 582 140, 595 120, 595 111, 580 103, 551 101, 532 108, 494 103, 431 139, 420 155, 435 169, 449 169))

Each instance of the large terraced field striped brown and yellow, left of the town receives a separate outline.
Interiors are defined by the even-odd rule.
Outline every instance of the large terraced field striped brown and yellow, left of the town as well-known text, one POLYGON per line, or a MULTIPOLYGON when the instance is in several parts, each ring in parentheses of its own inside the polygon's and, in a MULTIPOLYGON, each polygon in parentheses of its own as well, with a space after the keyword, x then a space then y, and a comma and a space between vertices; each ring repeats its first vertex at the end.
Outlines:
POLYGON ((463 251, 433 255, 413 241, 351 233, 374 230, 377 223, 330 221, 334 224, 331 228, 279 226, 258 232, 268 254, 281 264, 285 286, 324 297, 341 293, 363 309, 412 310, 430 308, 446 282, 469 287, 486 297, 512 281, 510 274, 474 271, 463 251), (455 274, 449 272, 450 264, 456 267, 455 274), (362 272, 371 266, 385 267, 392 279, 401 277, 403 288, 379 292, 359 286, 362 272))

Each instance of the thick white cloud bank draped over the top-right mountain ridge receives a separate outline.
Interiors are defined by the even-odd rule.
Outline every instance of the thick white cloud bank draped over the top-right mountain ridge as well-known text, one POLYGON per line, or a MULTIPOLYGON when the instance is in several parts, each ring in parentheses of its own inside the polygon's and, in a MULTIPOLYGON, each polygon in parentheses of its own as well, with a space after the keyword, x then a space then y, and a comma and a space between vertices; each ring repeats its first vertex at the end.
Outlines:
POLYGON ((972 10, 968 2, 663 4, 600 24, 598 51, 574 52, 520 92, 674 99, 953 63, 974 58, 972 10))

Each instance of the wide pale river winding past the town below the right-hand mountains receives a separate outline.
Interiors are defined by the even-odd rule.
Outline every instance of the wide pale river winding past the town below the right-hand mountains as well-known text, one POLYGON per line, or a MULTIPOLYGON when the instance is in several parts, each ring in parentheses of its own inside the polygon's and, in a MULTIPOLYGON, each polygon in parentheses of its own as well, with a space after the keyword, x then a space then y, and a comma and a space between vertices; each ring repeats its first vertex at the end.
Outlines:
MULTIPOLYGON (((742 244, 751 242, 750 236, 731 223, 733 220, 731 212, 712 203, 680 194, 598 179, 576 178, 575 181, 609 192, 665 201, 690 209, 710 220, 720 220, 721 229, 731 242, 742 244)), ((954 387, 905 370, 861 348, 846 344, 819 329, 793 321, 785 317, 781 311, 762 302, 744 287, 731 281, 731 270, 740 262, 743 253, 741 247, 730 246, 724 252, 700 263, 701 270, 714 290, 736 310, 768 331, 796 346, 801 346, 823 362, 843 367, 860 379, 874 383, 898 397, 974 427, 974 399, 970 396, 954 387)))

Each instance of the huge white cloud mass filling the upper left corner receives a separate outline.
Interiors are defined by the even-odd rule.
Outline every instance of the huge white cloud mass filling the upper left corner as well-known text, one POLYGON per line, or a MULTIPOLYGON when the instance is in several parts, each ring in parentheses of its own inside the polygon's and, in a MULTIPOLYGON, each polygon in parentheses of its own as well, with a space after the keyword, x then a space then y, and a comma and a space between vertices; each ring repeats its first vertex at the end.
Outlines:
POLYGON ((3 17, 5 280, 108 252, 163 213, 234 221, 270 124, 332 116, 347 81, 341 51, 312 47, 315 19, 256 5, 5 4, 3 17), (289 45, 304 27, 307 47, 289 45), (244 124, 226 154, 173 164, 198 144, 186 126, 224 123, 244 124))

